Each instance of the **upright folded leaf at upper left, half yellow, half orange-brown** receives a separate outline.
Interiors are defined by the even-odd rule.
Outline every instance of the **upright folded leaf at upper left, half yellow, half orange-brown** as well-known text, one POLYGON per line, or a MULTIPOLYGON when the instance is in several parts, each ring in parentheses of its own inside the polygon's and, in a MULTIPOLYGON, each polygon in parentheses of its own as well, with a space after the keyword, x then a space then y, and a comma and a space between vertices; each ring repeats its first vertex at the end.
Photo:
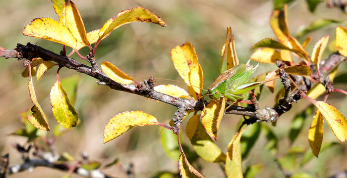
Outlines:
MULTIPOLYGON (((60 22, 62 23, 62 22, 60 22)), ((65 24, 77 40, 77 44, 90 45, 87 39, 86 29, 84 28, 83 20, 76 5, 69 0, 65 5, 65 24)), ((77 46, 73 46, 77 48, 77 46)))

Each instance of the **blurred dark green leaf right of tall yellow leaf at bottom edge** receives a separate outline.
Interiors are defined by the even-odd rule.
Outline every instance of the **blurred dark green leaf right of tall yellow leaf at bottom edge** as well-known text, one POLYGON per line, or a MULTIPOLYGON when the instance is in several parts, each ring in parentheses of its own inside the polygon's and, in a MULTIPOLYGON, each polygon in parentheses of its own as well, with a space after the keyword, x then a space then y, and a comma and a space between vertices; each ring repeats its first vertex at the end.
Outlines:
POLYGON ((241 136, 241 153, 242 159, 245 159, 260 134, 260 123, 249 125, 241 136))

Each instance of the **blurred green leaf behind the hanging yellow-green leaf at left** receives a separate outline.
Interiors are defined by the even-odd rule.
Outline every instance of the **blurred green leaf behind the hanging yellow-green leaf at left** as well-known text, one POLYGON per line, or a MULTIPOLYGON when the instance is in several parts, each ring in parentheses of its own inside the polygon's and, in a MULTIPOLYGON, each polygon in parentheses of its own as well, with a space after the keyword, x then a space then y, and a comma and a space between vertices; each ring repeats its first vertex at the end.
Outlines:
POLYGON ((65 89, 72 105, 76 102, 77 87, 80 81, 81 77, 78 75, 63 78, 60 81, 61 86, 65 89))

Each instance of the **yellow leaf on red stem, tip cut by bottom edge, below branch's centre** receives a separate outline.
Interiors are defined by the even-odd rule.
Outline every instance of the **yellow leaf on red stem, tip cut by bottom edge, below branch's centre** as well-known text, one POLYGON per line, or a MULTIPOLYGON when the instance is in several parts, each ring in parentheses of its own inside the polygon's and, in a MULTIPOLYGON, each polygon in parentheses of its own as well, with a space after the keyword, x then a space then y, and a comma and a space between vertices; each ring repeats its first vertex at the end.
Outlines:
POLYGON ((181 178, 204 178, 196 169, 194 169, 181 153, 178 160, 179 174, 181 178))

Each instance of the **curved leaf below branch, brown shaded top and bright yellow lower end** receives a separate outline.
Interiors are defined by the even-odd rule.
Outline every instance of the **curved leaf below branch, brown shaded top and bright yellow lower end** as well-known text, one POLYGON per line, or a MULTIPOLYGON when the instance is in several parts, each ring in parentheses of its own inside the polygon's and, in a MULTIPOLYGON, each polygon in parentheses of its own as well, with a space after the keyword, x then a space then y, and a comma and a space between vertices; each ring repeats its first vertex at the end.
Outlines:
POLYGON ((186 135, 189 138, 195 152, 209 162, 225 162, 226 155, 214 143, 200 122, 200 115, 192 116, 186 127, 186 135))

